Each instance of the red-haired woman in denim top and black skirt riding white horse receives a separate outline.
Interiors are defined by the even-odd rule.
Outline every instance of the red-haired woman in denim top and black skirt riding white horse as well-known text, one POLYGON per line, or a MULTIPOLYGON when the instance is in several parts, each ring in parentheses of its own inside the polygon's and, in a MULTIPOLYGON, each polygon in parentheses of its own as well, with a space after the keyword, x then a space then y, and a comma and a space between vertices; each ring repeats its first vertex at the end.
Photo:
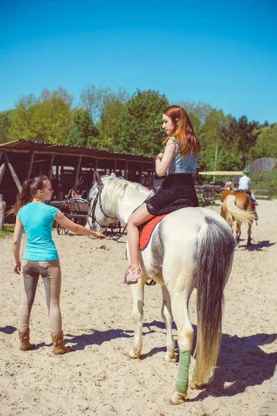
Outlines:
POLYGON ((179 199, 198 207, 193 175, 199 159, 201 145, 190 123, 188 114, 179 105, 170 105, 163 112, 164 153, 155 158, 156 173, 166 175, 161 188, 148 198, 128 218, 127 235, 130 266, 125 273, 125 283, 134 284, 142 277, 139 268, 139 225, 159 214, 159 211, 179 199))

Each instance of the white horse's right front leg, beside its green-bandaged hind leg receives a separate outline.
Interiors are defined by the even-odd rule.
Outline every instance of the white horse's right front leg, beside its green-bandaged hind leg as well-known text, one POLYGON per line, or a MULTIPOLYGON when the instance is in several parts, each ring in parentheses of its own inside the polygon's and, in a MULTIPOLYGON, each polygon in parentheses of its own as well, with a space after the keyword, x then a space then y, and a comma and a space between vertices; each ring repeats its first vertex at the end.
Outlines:
POLYGON ((170 361, 171 363, 176 363, 175 356, 175 342, 172 337, 172 311, 171 311, 171 300, 166 286, 161 286, 161 291, 163 294, 163 302, 161 305, 161 318, 166 324, 166 355, 164 357, 165 361, 170 361))

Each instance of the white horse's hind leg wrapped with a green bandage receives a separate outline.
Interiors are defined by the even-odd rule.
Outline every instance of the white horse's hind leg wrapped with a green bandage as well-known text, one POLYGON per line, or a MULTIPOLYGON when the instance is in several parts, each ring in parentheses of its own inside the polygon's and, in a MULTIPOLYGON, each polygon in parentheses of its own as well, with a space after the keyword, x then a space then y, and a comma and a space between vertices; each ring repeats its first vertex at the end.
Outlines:
MULTIPOLYGON (((186 279, 191 279, 191 276, 186 279)), ((188 280, 186 281, 188 283, 188 280)), ((176 390, 170 397, 171 404, 183 404, 188 391, 188 367, 190 365, 190 354, 193 348, 193 325, 188 317, 188 301, 195 285, 190 282, 184 291, 170 293, 172 302, 173 318, 177 324, 177 339, 179 344, 179 366, 176 382, 176 390)))

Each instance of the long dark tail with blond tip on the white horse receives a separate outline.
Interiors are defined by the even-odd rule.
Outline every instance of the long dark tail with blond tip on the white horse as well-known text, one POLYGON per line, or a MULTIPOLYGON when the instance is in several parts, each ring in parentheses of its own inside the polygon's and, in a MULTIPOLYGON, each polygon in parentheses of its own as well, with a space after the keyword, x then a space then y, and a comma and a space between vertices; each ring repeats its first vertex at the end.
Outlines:
POLYGON ((197 238, 197 383, 211 381, 222 334, 224 286, 228 280, 235 241, 229 227, 206 216, 197 238))

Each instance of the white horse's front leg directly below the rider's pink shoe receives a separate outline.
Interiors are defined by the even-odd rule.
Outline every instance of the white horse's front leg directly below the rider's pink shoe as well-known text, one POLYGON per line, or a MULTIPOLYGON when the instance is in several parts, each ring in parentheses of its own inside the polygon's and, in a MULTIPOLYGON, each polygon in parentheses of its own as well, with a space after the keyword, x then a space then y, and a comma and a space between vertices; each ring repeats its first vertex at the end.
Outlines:
POLYGON ((143 347, 143 300, 144 300, 145 279, 139 279, 137 284, 132 284, 133 310, 132 317, 134 322, 134 340, 132 349, 128 352, 129 358, 140 358, 143 347))

